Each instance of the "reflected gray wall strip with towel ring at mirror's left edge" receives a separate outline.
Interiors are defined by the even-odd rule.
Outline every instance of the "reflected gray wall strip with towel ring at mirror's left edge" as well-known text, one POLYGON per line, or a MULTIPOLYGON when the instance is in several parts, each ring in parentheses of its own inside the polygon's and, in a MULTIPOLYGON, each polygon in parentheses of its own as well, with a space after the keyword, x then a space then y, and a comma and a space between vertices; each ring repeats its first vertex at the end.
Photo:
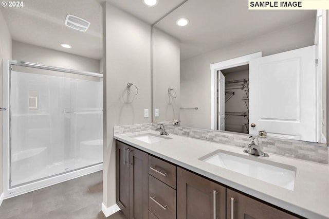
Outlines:
MULTIPOLYGON (((153 27, 152 55, 153 122, 179 120, 179 42, 153 27), (176 91, 176 98, 169 96, 168 88, 176 91), (159 117, 155 117, 156 108, 159 109, 159 117)), ((173 91, 171 93, 175 95, 173 91)))

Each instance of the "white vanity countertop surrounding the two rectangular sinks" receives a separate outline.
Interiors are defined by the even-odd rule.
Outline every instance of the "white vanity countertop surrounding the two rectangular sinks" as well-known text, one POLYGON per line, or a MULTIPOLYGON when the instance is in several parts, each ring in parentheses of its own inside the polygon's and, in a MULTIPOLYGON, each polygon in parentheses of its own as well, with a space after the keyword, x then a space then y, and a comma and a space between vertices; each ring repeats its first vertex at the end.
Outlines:
POLYGON ((270 153, 269 157, 258 157, 297 168, 294 191, 291 191, 198 159, 218 149, 253 156, 243 153, 243 148, 173 134, 168 136, 171 139, 152 144, 130 137, 142 133, 159 134, 144 131, 115 135, 114 138, 306 218, 329 218, 328 165, 270 153))

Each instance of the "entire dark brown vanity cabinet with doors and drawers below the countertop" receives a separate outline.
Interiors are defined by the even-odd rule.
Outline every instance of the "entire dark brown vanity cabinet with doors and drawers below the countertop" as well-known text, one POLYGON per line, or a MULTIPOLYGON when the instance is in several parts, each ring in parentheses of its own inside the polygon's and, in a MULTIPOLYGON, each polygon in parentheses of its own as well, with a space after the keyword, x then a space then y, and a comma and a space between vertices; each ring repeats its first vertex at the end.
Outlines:
POLYGON ((120 141, 116 198, 129 219, 302 218, 120 141))

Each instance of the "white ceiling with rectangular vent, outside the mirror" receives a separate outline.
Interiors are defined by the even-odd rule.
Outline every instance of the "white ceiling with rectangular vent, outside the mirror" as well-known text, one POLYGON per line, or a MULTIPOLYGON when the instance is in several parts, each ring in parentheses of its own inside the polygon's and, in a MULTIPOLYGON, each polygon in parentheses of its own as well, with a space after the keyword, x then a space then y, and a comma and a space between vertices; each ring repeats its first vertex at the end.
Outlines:
MULTIPOLYGON (((181 0, 182 1, 182 0, 181 0)), ((139 19, 152 24, 180 0, 165 0, 157 7, 147 7, 142 0, 107 0, 139 19)), ((102 4, 104 0, 28 0, 21 8, 1 7, 12 39, 23 43, 60 50, 80 56, 102 58, 102 4), (67 14, 76 15, 91 24, 86 32, 64 25, 67 14), (60 47, 61 43, 72 46, 60 47)))

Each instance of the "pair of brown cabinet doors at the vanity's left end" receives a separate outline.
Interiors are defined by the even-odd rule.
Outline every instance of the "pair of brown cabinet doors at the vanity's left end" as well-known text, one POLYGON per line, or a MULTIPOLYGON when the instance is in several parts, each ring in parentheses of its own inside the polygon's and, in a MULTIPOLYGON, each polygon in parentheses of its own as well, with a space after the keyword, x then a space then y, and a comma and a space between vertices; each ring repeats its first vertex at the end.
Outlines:
POLYGON ((116 141, 116 199, 129 219, 148 218, 148 154, 116 141))

